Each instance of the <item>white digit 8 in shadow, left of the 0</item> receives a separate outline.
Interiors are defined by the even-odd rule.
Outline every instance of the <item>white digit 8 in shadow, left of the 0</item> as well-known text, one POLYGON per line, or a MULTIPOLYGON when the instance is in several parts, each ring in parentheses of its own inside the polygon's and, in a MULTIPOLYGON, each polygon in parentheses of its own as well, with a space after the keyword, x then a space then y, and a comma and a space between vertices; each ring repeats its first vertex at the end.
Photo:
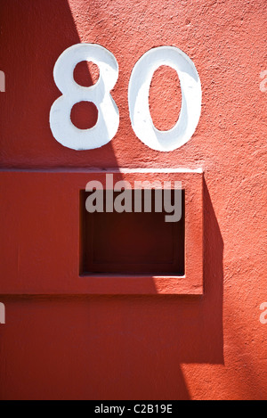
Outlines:
POLYGON ((53 76, 62 93, 50 112, 55 139, 73 150, 93 150, 109 143, 117 134, 119 125, 117 105, 110 95, 118 78, 114 55, 101 45, 73 45, 61 54, 53 76), (74 70, 81 61, 92 61, 99 67, 100 78, 94 86, 79 86, 74 80, 74 70), (71 122, 71 109, 78 102, 93 102, 97 107, 98 120, 94 127, 78 129, 71 122))

